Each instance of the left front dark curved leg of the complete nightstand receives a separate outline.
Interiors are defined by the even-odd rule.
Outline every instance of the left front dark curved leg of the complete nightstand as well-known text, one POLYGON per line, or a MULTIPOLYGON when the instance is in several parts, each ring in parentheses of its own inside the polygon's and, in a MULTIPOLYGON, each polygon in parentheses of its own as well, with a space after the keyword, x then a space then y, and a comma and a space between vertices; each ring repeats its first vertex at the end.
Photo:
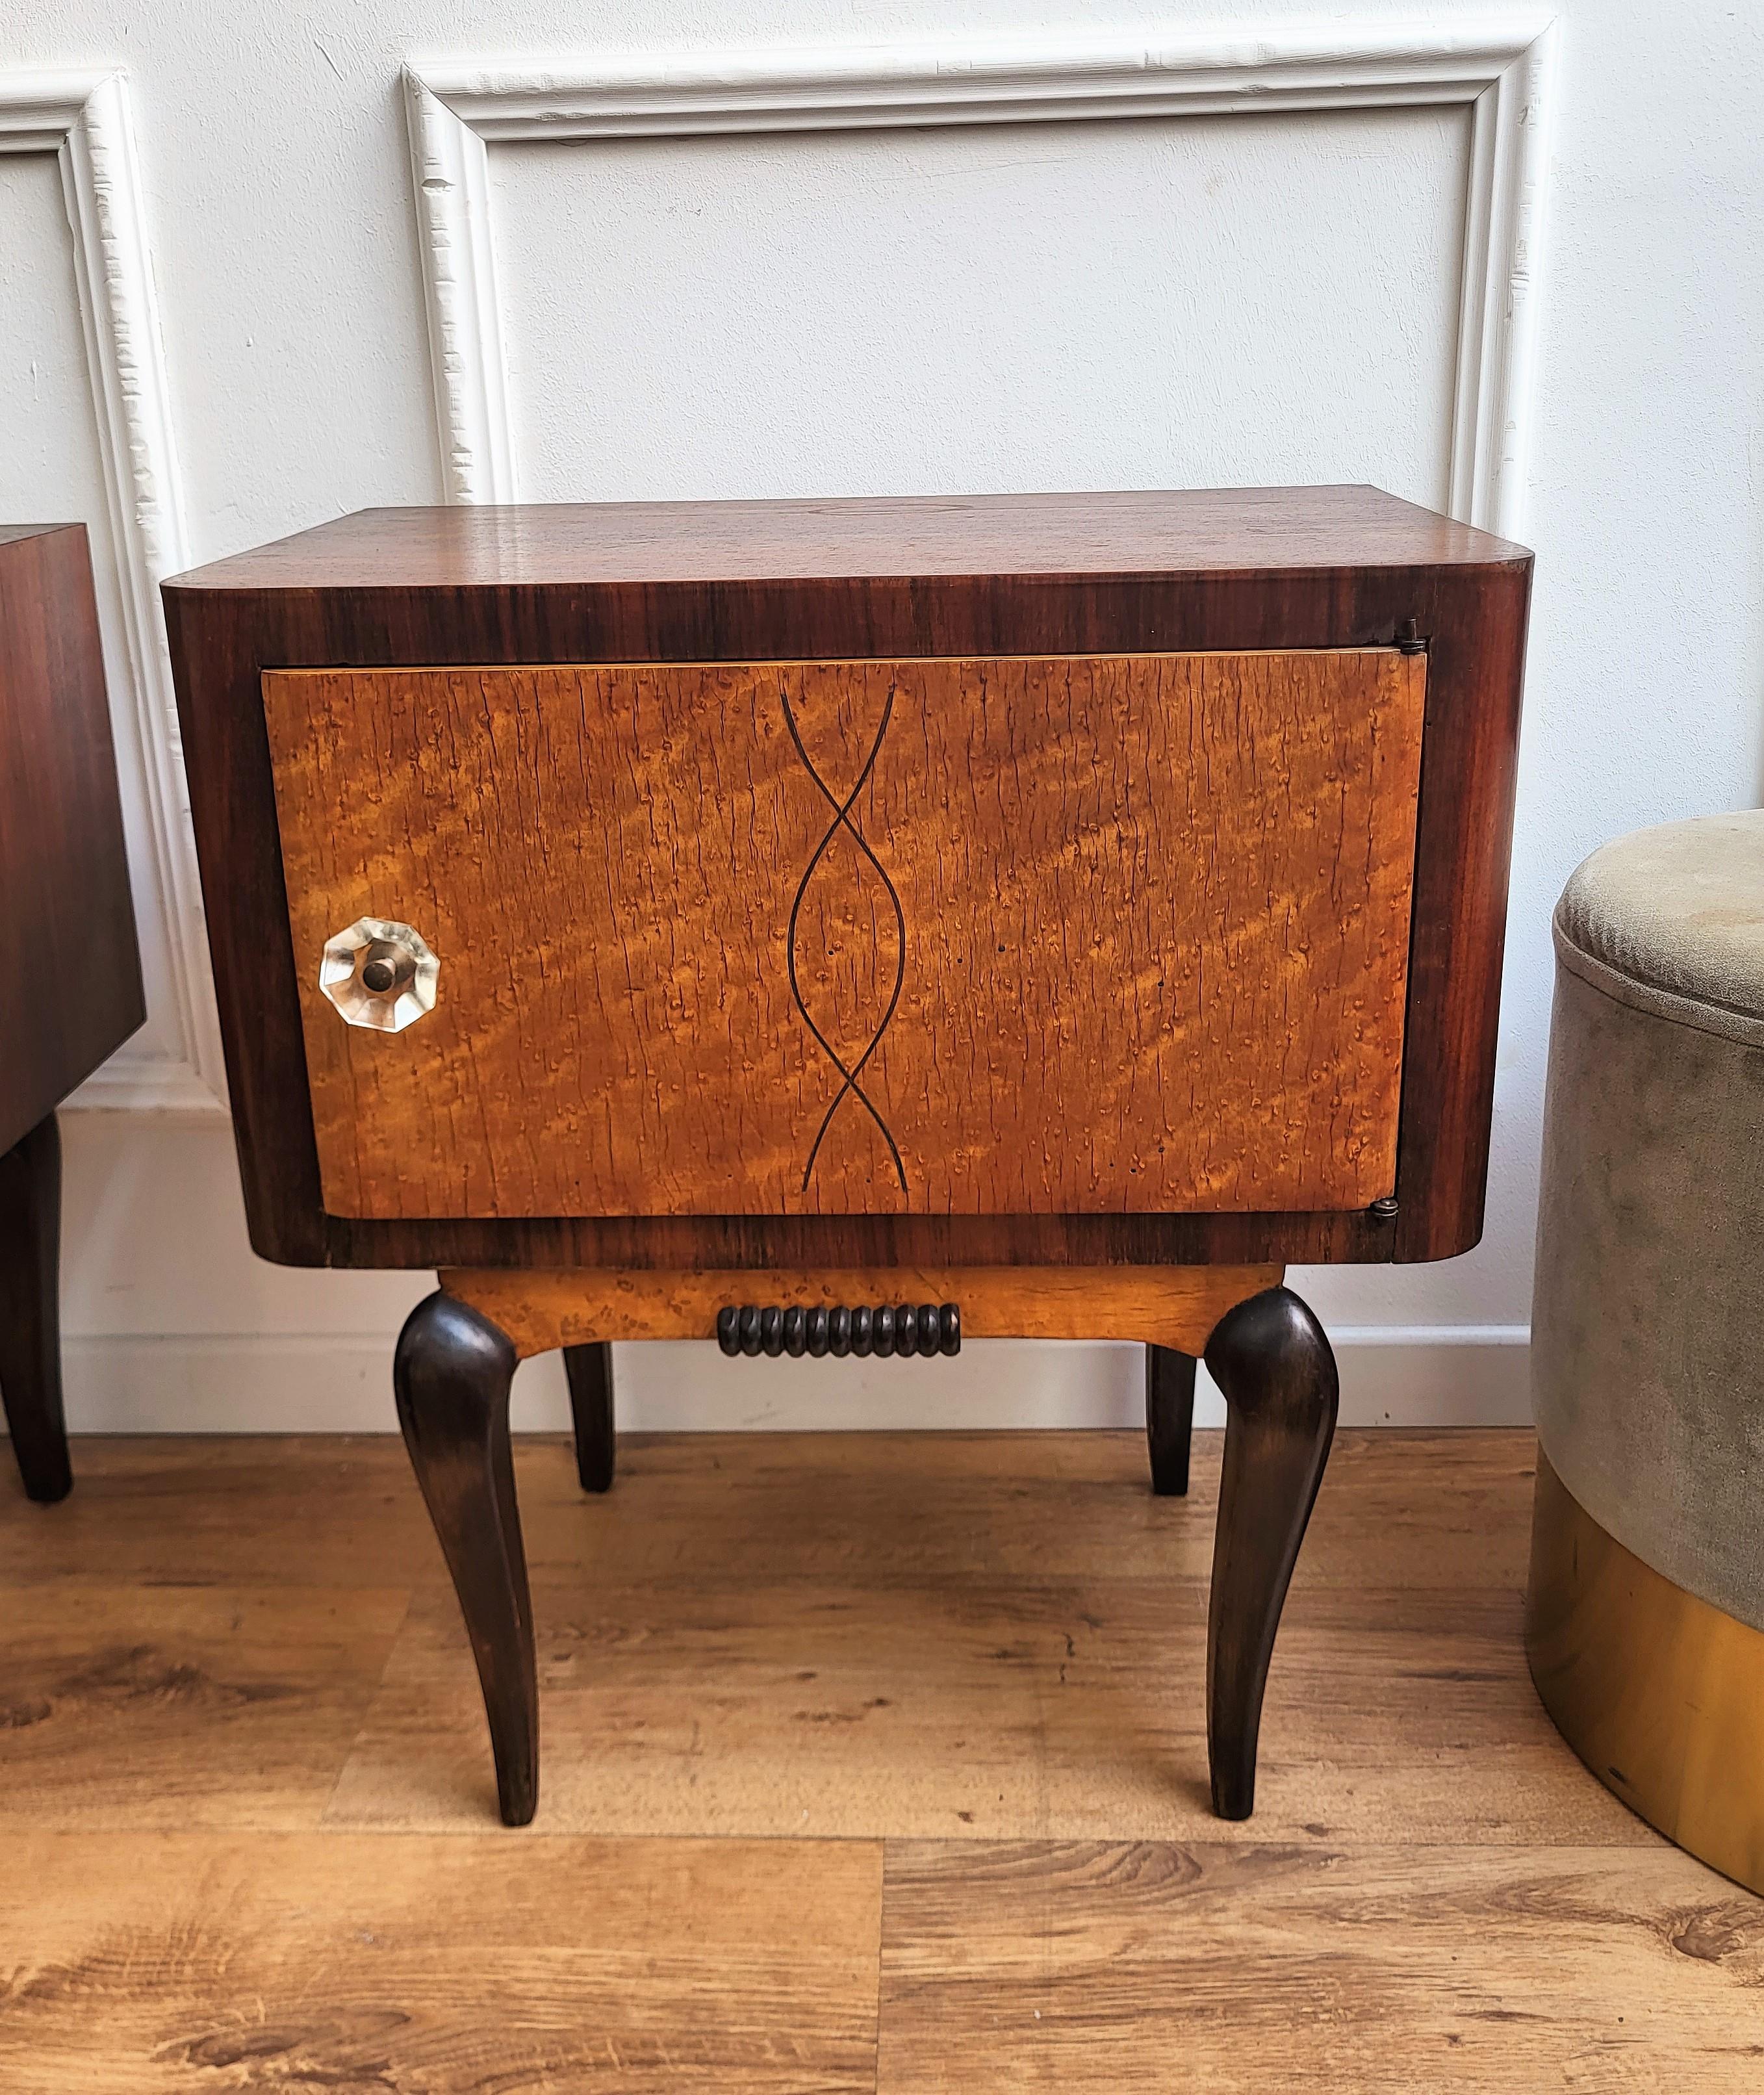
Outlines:
POLYGON ((538 1678, 509 1452, 513 1372, 503 1332, 442 1293, 411 1311, 392 1366, 398 1425, 478 1659, 503 1825, 524 1827, 538 1804, 538 1678))

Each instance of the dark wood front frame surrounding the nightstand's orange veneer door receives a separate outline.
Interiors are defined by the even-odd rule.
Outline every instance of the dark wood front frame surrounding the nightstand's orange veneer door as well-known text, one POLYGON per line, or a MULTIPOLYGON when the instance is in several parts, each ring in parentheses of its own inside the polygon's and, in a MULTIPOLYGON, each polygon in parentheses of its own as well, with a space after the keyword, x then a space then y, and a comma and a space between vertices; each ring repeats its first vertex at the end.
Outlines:
MULTIPOLYGON (((235 1127, 251 1242, 283 1263, 337 1265, 792 1265, 792 1263, 1182 1263, 1385 1261, 1397 1228, 1370 1215, 1184 1217, 798 1217, 532 1219, 350 1223, 323 1213, 293 960, 287 939, 260 670, 423 666, 446 662, 765 660, 861 654, 1010 654, 1188 647, 1387 645, 1404 618, 1473 635, 1485 587, 1523 591, 1523 564, 1487 570, 1358 570, 1190 576, 943 576, 934 580, 796 580, 784 585, 608 585, 469 591, 195 591, 168 589, 191 800, 203 859, 216 983, 228 1039, 235 1127), (1506 576, 1506 582, 1500 578, 1506 576)), ((1462 641, 1458 645, 1471 645, 1462 641)), ((1448 649, 1446 700, 1429 752, 1441 779, 1477 763, 1475 677, 1448 649), (1475 744, 1475 746, 1473 746, 1475 744)), ((1467 658, 1464 658, 1467 660, 1467 658)), ((1511 786, 1496 790, 1496 802, 1511 786)), ((1487 807, 1487 794, 1477 796, 1487 807)), ((1435 807, 1446 811, 1446 798, 1435 807)), ((1437 819, 1437 817, 1435 817, 1437 819)), ((1423 817, 1427 830, 1429 817, 1423 817)), ((1439 832, 1448 838, 1448 832, 1439 832)), ((1423 836, 1439 880, 1456 848, 1423 836)), ((1496 901, 1496 911, 1500 901, 1496 901)), ((1462 941, 1483 913, 1452 922, 1443 943, 1416 936, 1435 985, 1410 999, 1429 1066, 1448 1041, 1490 1031, 1487 964, 1462 941), (1437 949, 1435 949, 1437 945, 1437 949), (1448 1004, 1439 1006, 1439 995, 1448 1004), (1462 1006, 1462 1008, 1458 1008, 1462 1006)), ((1496 962, 1498 972, 1498 962, 1496 962)), ((1492 1043, 1492 1031, 1490 1031, 1492 1043)), ((1492 1045, 1490 1045, 1492 1052, 1492 1045)), ((1475 1135, 1477 1085, 1460 1083, 1456 1133, 1475 1135)), ((1404 1146, 1431 1140, 1427 1085, 1406 1091, 1404 1146)), ((1481 1165, 1475 1165, 1477 1175, 1481 1165)), ((1406 1257, 1462 1249, 1464 1192, 1437 1217, 1410 1173, 1406 1257)), ((1477 1175, 1479 1186, 1479 1175, 1477 1175)))

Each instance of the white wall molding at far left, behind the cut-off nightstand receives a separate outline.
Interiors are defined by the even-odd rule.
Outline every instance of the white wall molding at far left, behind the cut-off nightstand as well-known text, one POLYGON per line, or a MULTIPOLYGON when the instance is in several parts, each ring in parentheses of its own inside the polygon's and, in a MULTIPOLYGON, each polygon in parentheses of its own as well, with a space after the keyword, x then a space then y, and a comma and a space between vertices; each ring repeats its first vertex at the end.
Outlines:
POLYGON ((159 605, 161 578, 186 568, 189 551, 124 75, 0 73, 0 153, 54 153, 61 166, 153 836, 155 892, 136 895, 136 909, 157 909, 172 976, 172 1010, 155 1016, 176 1056, 124 1050, 73 1104, 214 1115, 220 1027, 159 605))

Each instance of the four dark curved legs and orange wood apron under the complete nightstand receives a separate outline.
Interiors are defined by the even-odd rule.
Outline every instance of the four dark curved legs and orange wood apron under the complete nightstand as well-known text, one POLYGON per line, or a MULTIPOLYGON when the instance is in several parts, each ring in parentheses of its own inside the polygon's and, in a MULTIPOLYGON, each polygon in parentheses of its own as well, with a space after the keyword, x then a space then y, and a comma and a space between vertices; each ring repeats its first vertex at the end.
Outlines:
POLYGON ((1205 1345, 1230 1406, 1209 1626, 1213 1802, 1221 1816, 1247 1818, 1267 1659, 1337 1402, 1328 1341, 1278 1280, 1278 1265, 444 1270, 444 1293, 413 1314, 398 1345, 398 1412, 478 1651, 503 1816, 515 1825, 532 1814, 536 1737, 532 1628, 507 1454, 515 1353, 526 1360, 564 1349, 578 1471, 589 1490, 601 1490, 612 1479, 612 1379, 599 1332, 626 1341, 706 1339, 719 1309, 742 1301, 825 1307, 920 1299, 960 1303, 960 1326, 972 1337, 1150 1343, 1156 1490, 1186 1481, 1194 1364, 1205 1345))

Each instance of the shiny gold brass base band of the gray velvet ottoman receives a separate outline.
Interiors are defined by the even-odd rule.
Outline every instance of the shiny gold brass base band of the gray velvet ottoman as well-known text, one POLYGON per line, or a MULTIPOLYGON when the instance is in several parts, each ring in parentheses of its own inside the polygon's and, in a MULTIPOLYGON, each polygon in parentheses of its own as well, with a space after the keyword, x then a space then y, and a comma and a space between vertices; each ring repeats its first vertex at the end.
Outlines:
POLYGON ((1525 1655, 1557 1730, 1609 1791, 1764 1892, 1764 1630, 1626 1550, 1542 1448, 1525 1655))

